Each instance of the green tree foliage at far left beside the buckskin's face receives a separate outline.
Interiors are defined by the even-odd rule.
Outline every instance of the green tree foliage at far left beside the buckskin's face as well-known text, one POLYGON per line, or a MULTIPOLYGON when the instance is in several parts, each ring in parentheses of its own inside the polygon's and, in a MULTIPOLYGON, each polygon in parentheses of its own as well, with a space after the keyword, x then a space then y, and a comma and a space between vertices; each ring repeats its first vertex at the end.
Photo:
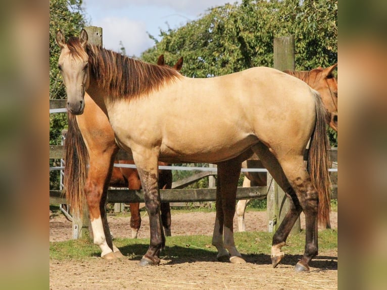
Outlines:
MULTIPOLYGON (((66 99, 66 91, 58 69, 60 48, 55 41, 58 29, 65 37, 76 35, 86 25, 82 0, 50 0, 50 99, 66 99)), ((50 114, 50 144, 61 143, 61 132, 67 128, 67 114, 50 114)), ((50 160, 59 166, 59 160, 50 160)), ((59 188, 59 171, 50 172, 50 188, 59 188)))

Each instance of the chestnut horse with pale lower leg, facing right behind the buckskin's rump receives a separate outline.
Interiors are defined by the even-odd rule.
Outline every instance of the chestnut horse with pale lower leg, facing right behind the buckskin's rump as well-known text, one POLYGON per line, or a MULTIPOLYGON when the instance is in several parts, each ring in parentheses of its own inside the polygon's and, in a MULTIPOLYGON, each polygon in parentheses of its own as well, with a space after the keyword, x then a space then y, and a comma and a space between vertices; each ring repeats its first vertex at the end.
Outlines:
MULTIPOLYGON (((320 93, 322 103, 327 111, 326 121, 337 132, 337 80, 332 74, 336 67, 337 64, 334 64, 325 69, 319 67, 311 71, 285 70, 284 72, 305 81, 311 88, 320 93)), ((257 160, 256 168, 263 168, 256 155, 253 155, 249 160, 257 160)), ((242 163, 242 168, 248 168, 247 161, 242 163)), ((266 186, 266 176, 266 172, 245 172, 243 186, 266 186)), ((239 231, 245 231, 245 211, 249 202, 250 200, 239 200, 236 204, 239 231)), ((329 220, 326 227, 330 228, 329 220)))

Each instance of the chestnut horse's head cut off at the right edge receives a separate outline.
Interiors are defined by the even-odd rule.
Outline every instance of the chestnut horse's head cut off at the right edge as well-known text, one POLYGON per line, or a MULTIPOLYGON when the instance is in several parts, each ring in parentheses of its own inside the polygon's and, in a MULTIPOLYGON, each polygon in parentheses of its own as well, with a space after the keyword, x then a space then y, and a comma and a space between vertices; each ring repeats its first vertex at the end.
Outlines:
POLYGON ((320 93, 324 107, 329 113, 329 126, 335 131, 337 131, 337 80, 332 72, 336 67, 337 64, 334 64, 326 69, 311 70, 308 83, 320 93))

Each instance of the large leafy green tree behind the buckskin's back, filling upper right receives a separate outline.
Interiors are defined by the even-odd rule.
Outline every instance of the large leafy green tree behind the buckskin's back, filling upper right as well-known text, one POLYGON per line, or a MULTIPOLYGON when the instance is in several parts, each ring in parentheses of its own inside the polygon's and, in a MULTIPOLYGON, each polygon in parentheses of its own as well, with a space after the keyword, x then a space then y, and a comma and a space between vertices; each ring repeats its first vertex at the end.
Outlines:
MULTIPOLYGON (((296 70, 337 62, 337 0, 244 0, 207 11, 178 29, 160 31, 162 39, 141 55, 154 63, 184 58, 182 74, 219 76, 254 66, 273 66, 273 39, 295 36, 296 70)), ((336 134, 328 131, 332 145, 336 134)))

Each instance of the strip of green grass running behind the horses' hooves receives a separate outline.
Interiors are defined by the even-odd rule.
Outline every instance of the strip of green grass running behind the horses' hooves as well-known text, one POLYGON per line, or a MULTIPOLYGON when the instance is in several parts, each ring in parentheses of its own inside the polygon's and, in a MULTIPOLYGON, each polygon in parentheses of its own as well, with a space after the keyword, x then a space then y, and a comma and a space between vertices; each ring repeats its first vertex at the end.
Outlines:
MULTIPOLYGON (((270 255, 273 233, 269 232, 235 232, 235 245, 243 255, 270 255)), ((211 245, 212 237, 207 235, 171 236, 166 238, 166 248, 160 257, 171 260, 211 261, 216 257, 217 250, 211 245)), ((122 254, 132 260, 140 260, 149 247, 149 238, 116 238, 115 245, 122 254)), ((305 231, 290 235, 283 251, 286 254, 302 255, 305 249, 305 231)), ((319 231, 319 252, 337 250, 337 231, 326 229, 319 231)), ((89 259, 100 257, 99 247, 91 240, 79 239, 50 243, 50 259, 89 259)))

